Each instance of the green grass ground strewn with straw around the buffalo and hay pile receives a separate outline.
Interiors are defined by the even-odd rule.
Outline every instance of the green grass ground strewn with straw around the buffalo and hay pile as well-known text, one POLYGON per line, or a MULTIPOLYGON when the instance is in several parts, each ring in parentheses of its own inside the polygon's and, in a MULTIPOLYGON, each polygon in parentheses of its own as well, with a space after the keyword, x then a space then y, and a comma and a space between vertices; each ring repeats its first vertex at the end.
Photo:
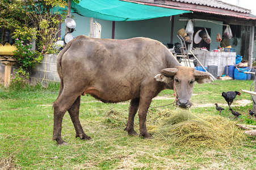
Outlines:
MULTIPOLYGON (((209 84, 195 84, 192 114, 219 116, 218 103, 225 110, 221 116, 232 119, 221 93, 250 90, 253 81, 217 80, 209 84), (198 107, 200 106, 200 107, 198 107)), ((11 90, 0 87, 0 169, 255 169, 255 138, 242 141, 245 145, 211 147, 177 146, 164 138, 141 139, 123 130, 127 122, 129 102, 104 104, 91 96, 81 97, 80 121, 91 141, 75 138, 75 130, 66 113, 62 123, 62 137, 68 146, 52 141, 52 103, 58 95, 58 84, 44 89, 26 87, 11 90)), ((173 103, 173 91, 165 90, 153 100, 152 107, 173 103)), ((237 123, 256 125, 248 116, 253 103, 249 94, 242 93, 234 100, 233 109, 242 114, 237 123), (247 101, 247 104, 243 104, 247 101)), ((176 112, 173 105, 150 108, 147 125, 158 126, 166 109, 176 112)), ((136 116, 135 130, 139 132, 136 116)))

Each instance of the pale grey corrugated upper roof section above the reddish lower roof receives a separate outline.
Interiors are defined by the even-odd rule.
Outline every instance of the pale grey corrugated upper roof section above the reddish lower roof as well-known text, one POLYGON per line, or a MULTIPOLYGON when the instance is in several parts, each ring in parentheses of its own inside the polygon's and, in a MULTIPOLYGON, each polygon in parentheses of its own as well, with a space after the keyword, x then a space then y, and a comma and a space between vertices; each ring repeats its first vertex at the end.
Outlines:
POLYGON ((232 5, 232 4, 225 3, 223 1, 218 1, 218 0, 170 0, 170 1, 190 3, 193 5, 209 6, 209 7, 221 8, 224 10, 248 13, 248 14, 251 12, 251 10, 249 9, 242 8, 240 6, 232 5))

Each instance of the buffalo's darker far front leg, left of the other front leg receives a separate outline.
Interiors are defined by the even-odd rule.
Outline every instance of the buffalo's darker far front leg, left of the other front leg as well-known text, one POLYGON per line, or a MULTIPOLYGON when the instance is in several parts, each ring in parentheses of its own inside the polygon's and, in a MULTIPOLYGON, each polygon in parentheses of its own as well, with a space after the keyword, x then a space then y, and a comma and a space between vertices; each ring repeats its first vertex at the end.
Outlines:
POLYGON ((129 135, 138 135, 134 130, 134 118, 138 111, 140 103, 140 98, 132 99, 129 105, 129 116, 125 131, 128 132, 129 135))

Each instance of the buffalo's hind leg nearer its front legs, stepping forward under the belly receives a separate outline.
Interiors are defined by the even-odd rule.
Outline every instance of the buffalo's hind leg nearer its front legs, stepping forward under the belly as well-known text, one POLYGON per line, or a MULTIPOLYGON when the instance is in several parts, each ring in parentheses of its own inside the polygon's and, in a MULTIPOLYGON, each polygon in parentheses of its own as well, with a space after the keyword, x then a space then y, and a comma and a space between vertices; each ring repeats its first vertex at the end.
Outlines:
POLYGON ((75 132, 76 132, 75 138, 79 137, 80 139, 90 140, 91 137, 85 134, 85 132, 83 131, 82 125, 79 121, 80 99, 81 99, 81 96, 78 96, 75 102, 73 103, 72 107, 68 109, 68 112, 75 128, 75 132))

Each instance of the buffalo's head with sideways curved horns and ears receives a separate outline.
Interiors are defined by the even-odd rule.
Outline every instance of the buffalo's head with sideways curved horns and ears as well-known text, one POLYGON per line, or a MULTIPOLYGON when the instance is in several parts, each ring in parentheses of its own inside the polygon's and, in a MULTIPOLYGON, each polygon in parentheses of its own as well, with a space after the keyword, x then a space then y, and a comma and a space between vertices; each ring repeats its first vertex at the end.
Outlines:
POLYGON ((210 74, 195 70, 191 67, 178 66, 161 70, 155 76, 157 81, 163 82, 166 88, 173 89, 177 100, 176 105, 182 108, 191 107, 190 101, 195 82, 211 82, 210 74))

